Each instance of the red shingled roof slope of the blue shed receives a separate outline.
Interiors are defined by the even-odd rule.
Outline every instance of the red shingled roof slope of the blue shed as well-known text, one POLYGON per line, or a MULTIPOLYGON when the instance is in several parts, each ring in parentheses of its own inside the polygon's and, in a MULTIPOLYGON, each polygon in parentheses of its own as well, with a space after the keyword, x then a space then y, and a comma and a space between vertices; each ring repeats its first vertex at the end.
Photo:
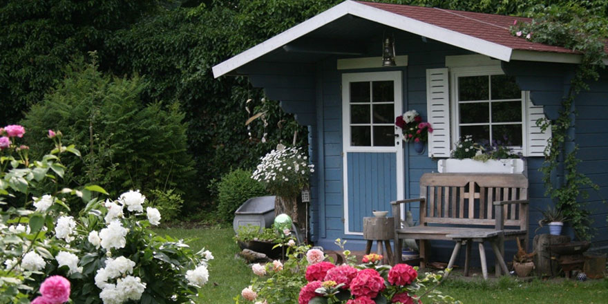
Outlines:
POLYGON ((505 15, 492 15, 479 12, 464 12, 461 10, 444 10, 442 8, 426 8, 421 6, 404 6, 401 4, 372 3, 358 1, 366 6, 372 6, 381 10, 409 17, 433 24, 447 30, 491 41, 514 50, 533 50, 538 52, 569 53, 578 52, 560 46, 549 46, 526 40, 524 37, 511 35, 509 27, 513 21, 530 22, 531 19, 524 17, 512 17, 505 15))

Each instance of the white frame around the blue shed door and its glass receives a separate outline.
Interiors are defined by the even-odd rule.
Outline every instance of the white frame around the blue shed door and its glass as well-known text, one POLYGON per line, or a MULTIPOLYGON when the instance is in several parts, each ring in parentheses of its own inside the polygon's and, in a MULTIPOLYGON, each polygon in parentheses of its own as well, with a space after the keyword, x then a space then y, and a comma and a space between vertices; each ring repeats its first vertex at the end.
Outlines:
MULTIPOLYGON (((344 207, 344 233, 350 235, 363 235, 362 232, 348 229, 348 158, 350 152, 395 153, 397 158, 397 200, 405 196, 404 189, 404 163, 403 163, 403 133, 395 126, 395 146, 350 146, 350 82, 374 82, 392 80, 395 82, 395 115, 403 114, 403 83, 401 71, 369 72, 369 73, 343 73, 342 74, 342 165, 343 165, 343 207, 344 207)), ((371 122, 370 122, 371 123, 371 122)))

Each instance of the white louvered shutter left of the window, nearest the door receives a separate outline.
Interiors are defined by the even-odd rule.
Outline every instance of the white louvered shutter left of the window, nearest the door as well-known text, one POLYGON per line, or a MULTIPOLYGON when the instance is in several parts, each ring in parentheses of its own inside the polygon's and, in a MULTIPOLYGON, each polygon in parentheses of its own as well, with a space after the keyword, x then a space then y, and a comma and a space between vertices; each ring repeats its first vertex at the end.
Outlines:
POLYGON ((448 68, 426 70, 426 111, 433 133, 428 133, 428 156, 450 157, 450 89, 448 68))

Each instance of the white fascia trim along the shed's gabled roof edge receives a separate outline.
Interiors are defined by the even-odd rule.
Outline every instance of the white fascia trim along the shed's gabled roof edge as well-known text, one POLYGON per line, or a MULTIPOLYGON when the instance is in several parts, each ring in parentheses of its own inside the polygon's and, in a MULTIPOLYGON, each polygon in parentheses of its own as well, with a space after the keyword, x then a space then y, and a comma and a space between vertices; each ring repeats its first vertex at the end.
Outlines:
POLYGON ((558 54, 548 52, 535 52, 530 50, 513 50, 508 46, 496 44, 491 41, 479 39, 471 35, 465 35, 461 32, 441 28, 430 23, 397 15, 393 12, 366 6, 362 3, 354 1, 344 1, 321 14, 316 15, 298 25, 281 32, 266 41, 245 50, 222 63, 213 66, 213 77, 226 75, 241 66, 266 55, 277 48, 281 48, 290 42, 307 35, 314 30, 325 26, 327 23, 335 21, 345 15, 353 15, 363 19, 368 19, 376 23, 397 28, 405 32, 410 32, 415 35, 428 37, 436 41, 457 46, 471 52, 486 55, 502 61, 511 60, 530 60, 530 61, 549 61, 562 63, 580 63, 580 55, 576 54, 558 54))

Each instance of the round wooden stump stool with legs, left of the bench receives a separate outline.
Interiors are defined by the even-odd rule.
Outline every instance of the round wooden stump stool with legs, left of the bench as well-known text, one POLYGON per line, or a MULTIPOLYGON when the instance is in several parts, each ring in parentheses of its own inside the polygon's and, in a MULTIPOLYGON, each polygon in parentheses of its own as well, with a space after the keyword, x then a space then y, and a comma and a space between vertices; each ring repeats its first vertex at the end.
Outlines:
POLYGON ((378 254, 384 256, 385 263, 392 265, 394 259, 390 248, 390 240, 395 238, 395 218, 363 218, 363 238, 368 240, 368 244, 365 246, 365 254, 370 254, 375 240, 377 241, 378 254), (386 254, 383 254, 382 242, 386 247, 386 254))

